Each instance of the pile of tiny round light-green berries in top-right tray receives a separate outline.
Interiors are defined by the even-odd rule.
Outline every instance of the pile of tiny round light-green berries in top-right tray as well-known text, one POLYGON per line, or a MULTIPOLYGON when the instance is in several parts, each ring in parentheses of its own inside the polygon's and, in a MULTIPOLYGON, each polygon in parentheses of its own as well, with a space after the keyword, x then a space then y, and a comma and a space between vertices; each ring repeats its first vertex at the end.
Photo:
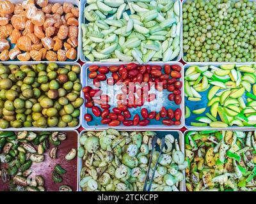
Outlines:
POLYGON ((184 1, 184 61, 256 61, 255 11, 255 1, 184 1))

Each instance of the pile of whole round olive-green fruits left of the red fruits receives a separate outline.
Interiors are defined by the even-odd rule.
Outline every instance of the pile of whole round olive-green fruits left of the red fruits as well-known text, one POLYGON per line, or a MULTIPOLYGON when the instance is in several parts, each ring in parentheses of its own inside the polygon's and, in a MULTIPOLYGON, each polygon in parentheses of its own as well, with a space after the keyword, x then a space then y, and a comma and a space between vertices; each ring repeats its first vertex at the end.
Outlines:
POLYGON ((0 128, 79 124, 79 66, 0 64, 0 128))

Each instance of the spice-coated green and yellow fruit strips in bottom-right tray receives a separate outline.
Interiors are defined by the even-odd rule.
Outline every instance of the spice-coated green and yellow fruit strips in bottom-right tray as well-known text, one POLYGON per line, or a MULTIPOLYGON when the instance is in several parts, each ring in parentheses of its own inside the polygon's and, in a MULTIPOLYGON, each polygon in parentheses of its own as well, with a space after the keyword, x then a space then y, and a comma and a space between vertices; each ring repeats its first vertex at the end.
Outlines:
POLYGON ((255 191, 255 131, 189 131, 187 191, 255 191))

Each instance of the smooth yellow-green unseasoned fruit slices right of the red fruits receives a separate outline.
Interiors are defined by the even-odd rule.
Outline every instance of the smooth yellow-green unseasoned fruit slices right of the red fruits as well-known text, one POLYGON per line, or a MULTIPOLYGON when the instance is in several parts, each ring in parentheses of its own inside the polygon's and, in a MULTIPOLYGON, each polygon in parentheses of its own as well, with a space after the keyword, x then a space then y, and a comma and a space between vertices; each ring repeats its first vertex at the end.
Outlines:
POLYGON ((256 64, 222 64, 220 68, 212 65, 189 67, 185 72, 184 84, 187 104, 194 101, 193 107, 196 107, 196 101, 204 101, 203 92, 207 92, 205 106, 210 108, 209 112, 205 112, 206 107, 190 110, 186 106, 185 118, 191 117, 191 112, 197 115, 205 113, 205 116, 196 117, 198 122, 190 124, 199 127, 255 126, 255 82, 256 64))

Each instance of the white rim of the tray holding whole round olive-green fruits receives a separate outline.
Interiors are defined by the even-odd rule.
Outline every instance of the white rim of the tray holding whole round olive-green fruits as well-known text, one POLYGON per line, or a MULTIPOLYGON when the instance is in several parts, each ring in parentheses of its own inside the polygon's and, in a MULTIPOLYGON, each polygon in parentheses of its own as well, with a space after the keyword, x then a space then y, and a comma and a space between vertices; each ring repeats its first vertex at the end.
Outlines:
MULTIPOLYGON (((40 64, 40 63, 43 63, 43 64, 49 64, 50 62, 34 62, 34 61, 29 61, 29 62, 1 62, 3 65, 10 65, 10 64, 16 64, 18 66, 21 66, 21 65, 33 65, 33 64, 40 64)), ((57 63, 58 65, 60 66, 64 66, 65 64, 68 64, 68 65, 77 65, 80 67, 81 71, 82 71, 82 68, 81 68, 81 65, 77 62, 54 62, 54 63, 57 63)), ((81 80, 81 76, 82 76, 82 73, 80 73, 80 80, 81 80)), ((82 82, 81 82, 82 84, 82 82)), ((83 91, 81 90, 80 92, 80 97, 83 98, 83 91)), ((83 106, 83 105, 82 105, 83 106)), ((81 107, 82 107, 81 106, 81 107)), ((45 129, 49 130, 49 131, 65 131, 65 130, 74 130, 74 129, 77 129, 81 126, 81 112, 82 112, 82 109, 81 107, 79 108, 80 110, 80 115, 79 115, 79 124, 76 126, 76 127, 66 127, 66 128, 58 128, 58 127, 47 127, 47 128, 35 128, 35 127, 29 127, 29 128, 6 128, 6 129, 1 129, 0 128, 0 131, 5 131, 5 130, 8 130, 8 131, 22 131, 22 130, 29 130, 29 131, 45 131, 45 129)))

